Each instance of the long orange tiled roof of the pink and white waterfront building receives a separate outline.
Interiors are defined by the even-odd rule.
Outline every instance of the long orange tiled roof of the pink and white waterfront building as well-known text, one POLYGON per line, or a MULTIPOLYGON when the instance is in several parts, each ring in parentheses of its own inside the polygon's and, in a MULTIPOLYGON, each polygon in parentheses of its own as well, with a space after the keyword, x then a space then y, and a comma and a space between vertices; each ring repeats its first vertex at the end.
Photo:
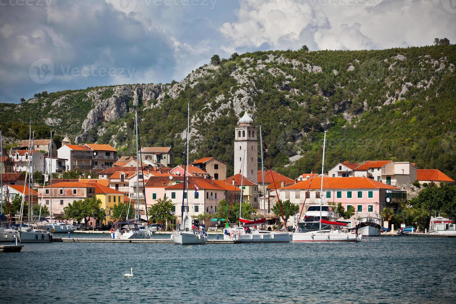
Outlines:
MULTIPOLYGON (((280 188, 282 190, 307 190, 311 180, 303 180, 297 184, 280 188)), ((321 177, 316 176, 312 179, 310 189, 320 189, 321 177)), ((390 189, 400 190, 397 187, 383 184, 368 177, 325 177, 323 179, 323 189, 390 189)))

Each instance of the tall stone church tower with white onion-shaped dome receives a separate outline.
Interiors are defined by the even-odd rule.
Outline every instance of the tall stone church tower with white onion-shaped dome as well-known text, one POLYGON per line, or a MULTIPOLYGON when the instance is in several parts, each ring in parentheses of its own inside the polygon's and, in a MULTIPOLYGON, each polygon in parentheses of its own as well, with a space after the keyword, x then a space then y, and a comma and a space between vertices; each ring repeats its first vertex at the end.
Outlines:
POLYGON ((245 155, 242 175, 258 184, 258 139, 253 123, 253 119, 245 112, 244 116, 239 119, 238 126, 234 128, 234 174, 238 174, 241 170, 245 155))

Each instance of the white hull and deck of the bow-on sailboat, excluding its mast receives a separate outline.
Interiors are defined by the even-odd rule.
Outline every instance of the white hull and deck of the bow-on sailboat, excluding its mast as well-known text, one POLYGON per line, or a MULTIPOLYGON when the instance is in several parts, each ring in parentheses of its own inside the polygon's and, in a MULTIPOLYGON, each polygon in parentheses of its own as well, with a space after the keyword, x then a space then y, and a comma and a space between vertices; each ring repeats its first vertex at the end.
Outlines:
POLYGON ((204 226, 196 227, 192 223, 192 216, 184 214, 181 226, 171 234, 171 239, 178 245, 204 244, 207 241, 207 233, 204 226))

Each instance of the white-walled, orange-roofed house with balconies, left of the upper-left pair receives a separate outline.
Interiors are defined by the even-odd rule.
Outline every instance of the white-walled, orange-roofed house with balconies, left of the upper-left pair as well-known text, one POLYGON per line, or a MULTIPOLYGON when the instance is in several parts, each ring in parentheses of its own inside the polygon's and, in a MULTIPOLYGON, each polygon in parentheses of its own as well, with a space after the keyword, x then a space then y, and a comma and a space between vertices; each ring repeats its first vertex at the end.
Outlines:
POLYGON ((67 160, 66 171, 78 170, 91 172, 93 151, 88 146, 78 144, 66 144, 57 149, 57 157, 67 160))

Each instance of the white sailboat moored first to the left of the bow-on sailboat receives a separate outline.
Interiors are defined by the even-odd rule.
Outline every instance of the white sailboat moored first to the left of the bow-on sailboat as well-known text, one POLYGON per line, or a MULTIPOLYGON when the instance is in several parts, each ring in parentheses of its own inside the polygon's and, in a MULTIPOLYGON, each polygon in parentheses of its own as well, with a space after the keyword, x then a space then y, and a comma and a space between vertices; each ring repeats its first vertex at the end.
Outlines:
MULTIPOLYGON (((140 196, 139 196, 139 147, 138 147, 138 111, 135 112, 135 132, 136 132, 136 200, 135 200, 135 220, 140 222, 140 196)), ((143 176, 144 180, 144 176, 143 176)), ((130 203, 128 204, 128 211, 130 211, 130 203)), ((151 238, 152 230, 148 227, 142 226, 135 222, 129 222, 127 211, 126 222, 118 222, 114 224, 113 238, 119 239, 147 239, 151 238)))

